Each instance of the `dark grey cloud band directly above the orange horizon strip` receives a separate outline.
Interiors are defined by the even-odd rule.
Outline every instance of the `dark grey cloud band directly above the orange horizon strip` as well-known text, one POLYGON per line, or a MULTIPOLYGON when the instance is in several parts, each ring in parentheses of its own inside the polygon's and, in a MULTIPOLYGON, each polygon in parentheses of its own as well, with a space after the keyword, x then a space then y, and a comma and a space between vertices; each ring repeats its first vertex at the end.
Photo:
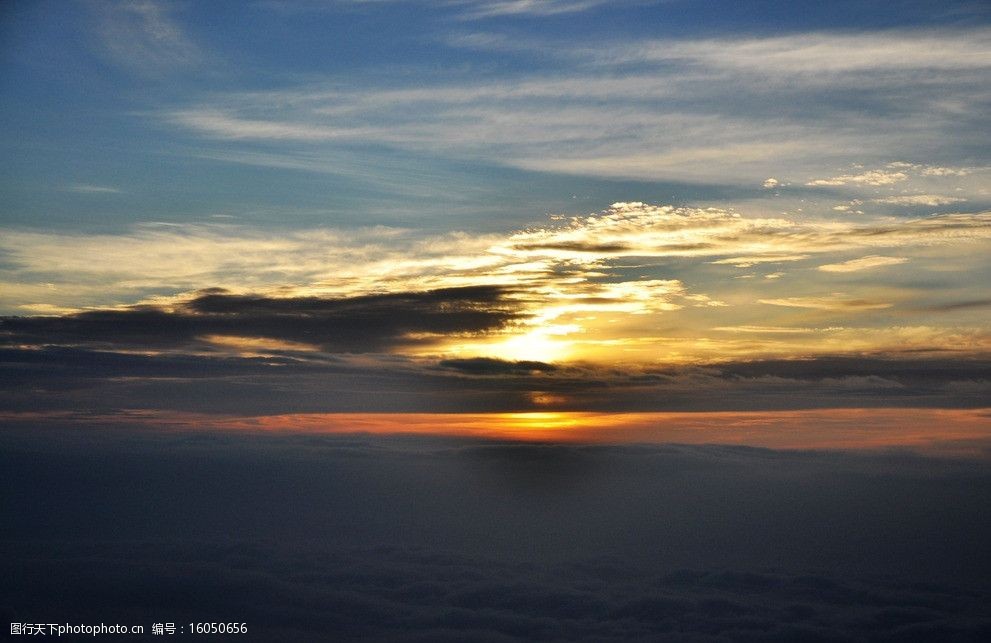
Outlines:
POLYGON ((320 412, 760 411, 983 408, 991 361, 903 356, 727 362, 666 369, 487 358, 360 359, 80 347, 0 350, 0 410, 154 408, 228 414, 320 412))

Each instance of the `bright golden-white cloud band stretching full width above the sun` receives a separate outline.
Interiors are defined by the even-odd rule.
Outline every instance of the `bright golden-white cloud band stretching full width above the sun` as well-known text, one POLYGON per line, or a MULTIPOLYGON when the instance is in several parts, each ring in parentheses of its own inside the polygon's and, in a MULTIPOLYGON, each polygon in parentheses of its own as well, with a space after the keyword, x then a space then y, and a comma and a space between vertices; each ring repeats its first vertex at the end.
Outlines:
MULTIPOLYGON (((599 295, 620 283, 636 282, 629 287, 638 291, 660 283, 612 276, 611 262, 623 258, 678 257, 746 267, 858 249, 901 248, 905 250, 900 254, 905 254, 910 248, 963 248, 962 244, 988 240, 991 212, 816 223, 629 202, 544 227, 489 235, 422 236, 376 227, 272 236, 230 224, 147 224, 116 235, 5 230, 0 252, 6 267, 0 280, 10 305, 42 303, 54 295, 59 299, 50 303, 78 305, 101 290, 106 303, 146 290, 214 286, 288 286, 346 295, 382 288, 500 283, 586 296, 593 283, 599 295), (86 292, 73 299, 77 288, 86 292)), ((868 255, 825 264, 821 270, 849 272, 906 260, 868 255)))

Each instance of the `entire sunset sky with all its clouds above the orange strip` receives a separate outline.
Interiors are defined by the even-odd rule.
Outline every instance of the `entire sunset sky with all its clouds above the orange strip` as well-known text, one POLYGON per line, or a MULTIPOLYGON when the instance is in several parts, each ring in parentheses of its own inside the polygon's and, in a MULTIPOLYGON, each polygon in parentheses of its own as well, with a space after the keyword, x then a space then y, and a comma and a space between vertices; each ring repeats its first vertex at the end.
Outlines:
POLYGON ((2 412, 986 429, 987 5, 774 6, 6 4, 2 412))

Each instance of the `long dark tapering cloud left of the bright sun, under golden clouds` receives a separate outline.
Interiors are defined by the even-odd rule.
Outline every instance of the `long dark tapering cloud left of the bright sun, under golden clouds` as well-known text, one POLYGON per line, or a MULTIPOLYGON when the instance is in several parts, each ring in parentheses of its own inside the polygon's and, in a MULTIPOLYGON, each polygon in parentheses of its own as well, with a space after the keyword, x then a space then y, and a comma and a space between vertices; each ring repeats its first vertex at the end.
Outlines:
POLYGON ((61 317, 5 317, 8 344, 185 347, 208 335, 264 337, 360 353, 409 344, 413 334, 480 333, 520 317, 498 286, 340 299, 271 298, 211 289, 172 310, 133 306, 61 317))

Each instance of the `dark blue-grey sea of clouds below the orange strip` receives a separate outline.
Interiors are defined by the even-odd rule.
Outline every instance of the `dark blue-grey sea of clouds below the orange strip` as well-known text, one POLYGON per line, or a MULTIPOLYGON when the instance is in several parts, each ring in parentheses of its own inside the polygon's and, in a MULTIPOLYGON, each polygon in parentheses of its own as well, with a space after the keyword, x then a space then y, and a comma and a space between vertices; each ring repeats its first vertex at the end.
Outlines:
POLYGON ((14 429, 0 613, 251 641, 983 641, 986 462, 14 429))

